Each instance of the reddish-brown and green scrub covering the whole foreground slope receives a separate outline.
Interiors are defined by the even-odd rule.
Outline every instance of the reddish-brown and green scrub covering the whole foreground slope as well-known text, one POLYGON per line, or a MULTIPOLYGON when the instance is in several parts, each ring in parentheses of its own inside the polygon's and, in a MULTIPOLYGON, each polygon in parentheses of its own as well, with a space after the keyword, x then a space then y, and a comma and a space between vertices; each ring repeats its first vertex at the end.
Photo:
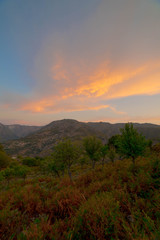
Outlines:
POLYGON ((126 159, 97 165, 74 185, 13 179, 0 192, 0 239, 159 239, 160 159, 139 157, 135 170, 126 159))

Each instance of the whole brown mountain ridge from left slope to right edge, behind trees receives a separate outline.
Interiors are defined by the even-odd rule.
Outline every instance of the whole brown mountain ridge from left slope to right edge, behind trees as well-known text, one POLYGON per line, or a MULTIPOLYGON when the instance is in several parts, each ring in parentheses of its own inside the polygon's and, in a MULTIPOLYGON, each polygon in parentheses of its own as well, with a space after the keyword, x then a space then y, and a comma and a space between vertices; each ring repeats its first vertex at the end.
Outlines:
MULTIPOLYGON (((83 123, 64 119, 53 121, 27 137, 8 141, 3 145, 5 150, 12 155, 45 156, 53 151, 54 144, 65 137, 80 140, 85 136, 96 135, 103 142, 107 142, 108 138, 120 133, 120 128, 123 128, 124 125, 124 123, 110 124, 105 122, 83 123)), ((159 125, 135 123, 134 127, 146 138, 160 141, 159 125)))

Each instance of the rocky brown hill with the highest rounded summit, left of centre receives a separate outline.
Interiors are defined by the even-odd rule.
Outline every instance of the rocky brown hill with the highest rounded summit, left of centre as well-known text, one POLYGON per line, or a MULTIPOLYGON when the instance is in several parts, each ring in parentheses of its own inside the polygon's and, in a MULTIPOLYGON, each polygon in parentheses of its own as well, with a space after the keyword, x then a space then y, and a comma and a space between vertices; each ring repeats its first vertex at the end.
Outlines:
POLYGON ((63 138, 80 140, 85 136, 97 135, 104 139, 105 134, 94 130, 83 122, 64 119, 51 122, 28 137, 8 141, 3 144, 5 150, 14 155, 45 156, 53 151, 53 146, 63 138))

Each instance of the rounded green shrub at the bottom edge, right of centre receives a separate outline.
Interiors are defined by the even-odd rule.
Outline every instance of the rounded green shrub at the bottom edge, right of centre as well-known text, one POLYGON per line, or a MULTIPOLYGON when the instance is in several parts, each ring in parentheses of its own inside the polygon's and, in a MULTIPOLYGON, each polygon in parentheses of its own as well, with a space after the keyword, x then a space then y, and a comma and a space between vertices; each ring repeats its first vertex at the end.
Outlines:
POLYGON ((80 207, 72 239, 117 239, 122 230, 120 218, 119 203, 110 193, 95 194, 80 207))

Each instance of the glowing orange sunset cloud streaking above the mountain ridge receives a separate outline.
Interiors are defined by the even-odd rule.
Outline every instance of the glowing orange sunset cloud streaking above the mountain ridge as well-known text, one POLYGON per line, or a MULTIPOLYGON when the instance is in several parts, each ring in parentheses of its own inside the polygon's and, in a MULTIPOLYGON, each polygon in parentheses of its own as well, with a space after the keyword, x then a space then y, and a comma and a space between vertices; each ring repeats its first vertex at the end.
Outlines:
POLYGON ((57 113, 110 108, 116 114, 124 114, 102 102, 112 98, 160 92, 160 64, 144 64, 137 68, 126 66, 111 71, 109 65, 104 63, 94 72, 82 74, 74 65, 67 71, 64 64, 61 61, 52 68, 53 80, 56 76, 56 81, 62 81, 57 93, 29 102, 21 106, 22 110, 57 113), (63 85, 66 81, 68 84, 63 85))

